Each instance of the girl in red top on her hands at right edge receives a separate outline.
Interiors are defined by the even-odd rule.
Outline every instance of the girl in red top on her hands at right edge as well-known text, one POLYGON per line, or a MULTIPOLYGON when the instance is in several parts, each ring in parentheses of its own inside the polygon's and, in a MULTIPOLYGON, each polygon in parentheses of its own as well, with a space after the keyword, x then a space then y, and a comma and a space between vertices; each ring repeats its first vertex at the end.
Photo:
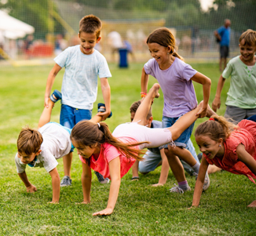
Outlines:
MULTIPOLYGON (((225 118, 213 115, 196 129, 196 143, 203 158, 196 180, 192 206, 198 206, 204 175, 209 164, 226 171, 256 179, 256 115, 242 120, 237 126, 225 118), (250 119, 250 120, 249 120, 250 119)), ((248 207, 256 207, 256 200, 248 207)))

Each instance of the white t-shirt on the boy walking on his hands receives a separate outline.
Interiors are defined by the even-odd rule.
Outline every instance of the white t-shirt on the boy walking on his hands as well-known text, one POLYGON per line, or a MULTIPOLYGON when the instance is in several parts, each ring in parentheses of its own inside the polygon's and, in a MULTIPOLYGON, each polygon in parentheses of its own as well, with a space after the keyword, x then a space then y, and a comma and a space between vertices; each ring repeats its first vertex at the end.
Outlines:
MULTIPOLYGON (((70 134, 57 123, 43 125, 38 131, 42 134, 43 142, 41 153, 38 154, 34 167, 44 167, 47 172, 53 170, 57 165, 57 159, 71 151, 70 134)), ((20 161, 18 154, 15 156, 16 171, 24 172, 26 164, 20 161)))

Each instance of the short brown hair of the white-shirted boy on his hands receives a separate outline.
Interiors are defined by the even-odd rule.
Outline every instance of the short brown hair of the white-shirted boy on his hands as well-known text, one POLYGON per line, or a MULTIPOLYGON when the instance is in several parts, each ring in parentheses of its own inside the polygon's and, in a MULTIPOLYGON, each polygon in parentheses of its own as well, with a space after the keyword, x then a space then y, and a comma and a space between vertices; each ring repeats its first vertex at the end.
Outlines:
POLYGON ((42 134, 36 129, 25 127, 21 129, 17 140, 17 148, 20 154, 31 155, 40 150, 42 144, 42 134))

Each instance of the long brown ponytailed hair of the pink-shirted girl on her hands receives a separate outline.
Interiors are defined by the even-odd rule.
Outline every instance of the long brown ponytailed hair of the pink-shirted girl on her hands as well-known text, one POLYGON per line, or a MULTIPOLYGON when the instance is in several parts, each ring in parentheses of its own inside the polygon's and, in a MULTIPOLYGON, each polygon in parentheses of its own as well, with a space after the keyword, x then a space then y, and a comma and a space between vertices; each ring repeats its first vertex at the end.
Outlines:
POLYGON ((140 154, 144 154, 144 151, 134 149, 133 147, 148 142, 123 143, 112 136, 106 123, 101 122, 99 124, 101 127, 90 121, 77 123, 71 131, 71 140, 75 140, 76 143, 89 147, 95 144, 109 143, 116 147, 126 158, 135 158, 137 161, 143 159, 140 157, 140 154))

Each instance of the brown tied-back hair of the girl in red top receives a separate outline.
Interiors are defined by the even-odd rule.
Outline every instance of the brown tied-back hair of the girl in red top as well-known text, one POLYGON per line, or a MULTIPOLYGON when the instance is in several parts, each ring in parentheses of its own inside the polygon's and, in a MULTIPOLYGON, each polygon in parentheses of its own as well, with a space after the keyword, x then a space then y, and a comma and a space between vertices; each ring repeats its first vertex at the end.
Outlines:
POLYGON ((214 121, 208 120, 196 128, 195 136, 204 135, 209 136, 214 141, 218 141, 219 139, 225 141, 232 131, 237 129, 236 125, 224 117, 213 115, 211 118, 214 118, 214 121))

